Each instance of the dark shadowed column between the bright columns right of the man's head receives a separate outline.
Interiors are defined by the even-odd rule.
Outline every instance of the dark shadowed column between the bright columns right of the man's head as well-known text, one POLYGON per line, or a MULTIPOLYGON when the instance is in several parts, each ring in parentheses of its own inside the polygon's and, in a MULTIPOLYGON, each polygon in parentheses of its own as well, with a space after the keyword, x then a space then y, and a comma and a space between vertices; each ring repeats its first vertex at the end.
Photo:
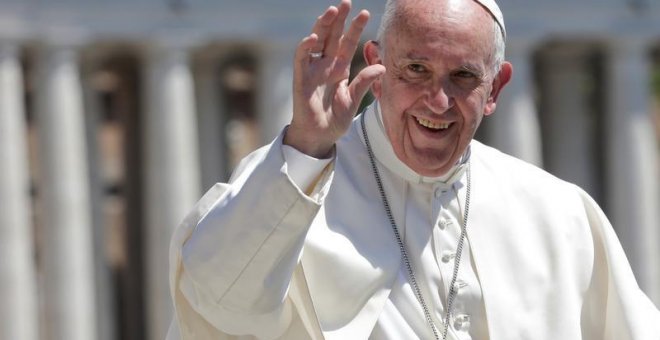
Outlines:
POLYGON ((544 166, 596 199, 601 194, 598 116, 590 101, 594 75, 588 47, 563 45, 542 55, 544 166))

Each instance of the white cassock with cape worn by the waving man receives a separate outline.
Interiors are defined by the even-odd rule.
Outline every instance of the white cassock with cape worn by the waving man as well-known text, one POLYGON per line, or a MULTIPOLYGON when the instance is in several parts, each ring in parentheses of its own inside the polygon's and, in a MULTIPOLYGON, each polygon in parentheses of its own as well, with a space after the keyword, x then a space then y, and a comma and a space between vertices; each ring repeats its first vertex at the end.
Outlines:
MULTIPOLYGON (((420 290, 442 324, 471 174, 451 339, 660 339, 614 231, 580 188, 473 141, 443 178, 366 128, 420 290), (469 161, 468 161, 469 158, 469 161)), ((356 119, 323 161, 249 155, 176 231, 169 339, 430 339, 356 119), (303 189, 301 189, 303 188, 303 189)))

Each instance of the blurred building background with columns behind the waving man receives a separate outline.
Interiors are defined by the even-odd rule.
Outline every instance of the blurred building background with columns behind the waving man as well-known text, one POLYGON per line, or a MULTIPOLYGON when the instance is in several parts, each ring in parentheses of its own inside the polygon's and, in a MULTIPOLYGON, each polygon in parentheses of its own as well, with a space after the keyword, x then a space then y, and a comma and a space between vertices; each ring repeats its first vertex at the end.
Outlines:
MULTIPOLYGON (((515 72, 477 139, 585 188, 660 305, 660 2, 499 3, 515 72)), ((289 121, 330 4, 0 0, 0 339, 164 338, 170 235, 289 121)), ((375 37, 383 1, 354 7, 375 37)))

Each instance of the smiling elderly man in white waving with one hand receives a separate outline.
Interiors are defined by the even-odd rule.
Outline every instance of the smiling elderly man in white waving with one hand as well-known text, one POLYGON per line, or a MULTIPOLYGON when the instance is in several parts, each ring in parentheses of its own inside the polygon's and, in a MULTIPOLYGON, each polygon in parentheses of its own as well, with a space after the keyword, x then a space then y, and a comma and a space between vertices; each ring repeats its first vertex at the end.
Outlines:
POLYGON ((290 126, 175 234, 170 336, 659 339, 594 201, 472 140, 512 74, 494 1, 388 1, 351 83, 349 11, 300 42, 290 126))

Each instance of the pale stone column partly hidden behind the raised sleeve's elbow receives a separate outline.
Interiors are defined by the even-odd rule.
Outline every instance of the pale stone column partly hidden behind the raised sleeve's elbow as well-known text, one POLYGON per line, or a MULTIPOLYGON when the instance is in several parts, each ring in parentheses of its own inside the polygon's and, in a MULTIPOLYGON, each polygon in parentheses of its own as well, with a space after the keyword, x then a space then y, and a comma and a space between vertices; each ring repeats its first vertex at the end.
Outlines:
POLYGON ((164 339, 172 319, 169 244, 200 196, 197 113, 188 52, 162 44, 147 53, 145 208, 149 339, 164 339))

